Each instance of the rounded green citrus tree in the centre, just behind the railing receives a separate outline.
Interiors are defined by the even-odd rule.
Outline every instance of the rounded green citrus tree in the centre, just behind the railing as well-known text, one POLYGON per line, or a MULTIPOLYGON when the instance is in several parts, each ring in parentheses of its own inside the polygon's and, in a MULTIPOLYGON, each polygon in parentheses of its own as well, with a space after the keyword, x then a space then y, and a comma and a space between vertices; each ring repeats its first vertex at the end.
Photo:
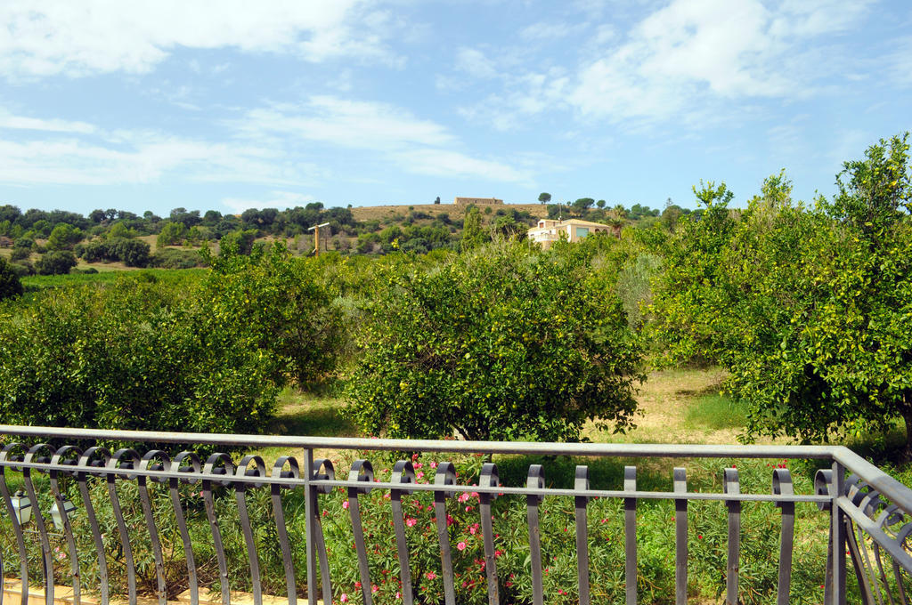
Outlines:
POLYGON ((371 435, 573 440, 631 426, 641 349, 578 251, 494 243, 430 270, 394 264, 368 304, 349 411, 371 435))

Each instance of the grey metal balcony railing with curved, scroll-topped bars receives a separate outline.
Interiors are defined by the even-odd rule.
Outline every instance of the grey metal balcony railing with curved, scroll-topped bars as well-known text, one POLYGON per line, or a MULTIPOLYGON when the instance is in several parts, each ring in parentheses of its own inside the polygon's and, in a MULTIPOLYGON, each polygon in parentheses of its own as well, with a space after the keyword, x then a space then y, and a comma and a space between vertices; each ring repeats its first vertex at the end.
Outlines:
MULTIPOLYGON (((304 496, 306 518, 306 595, 311 605, 322 595, 328 602, 332 599, 333 579, 330 575, 323 516, 320 512, 321 497, 334 489, 345 490, 348 521, 350 521, 354 549, 358 555, 358 574, 362 599, 371 604, 370 552, 365 539, 362 523, 362 499, 371 490, 382 490, 389 494, 392 509, 392 535, 395 538, 401 599, 407 605, 415 600, 414 580, 409 569, 409 545, 404 520, 402 501, 409 494, 424 492, 433 497, 433 512, 436 523, 437 541, 440 547, 440 570, 443 583, 443 601, 448 605, 456 602, 454 572, 452 563, 453 545, 448 531, 448 513, 457 506, 459 496, 476 494, 478 498, 479 531, 483 540, 483 570, 487 580, 487 596, 490 603, 499 603, 504 579, 498 575, 498 539, 492 528, 492 501, 497 497, 514 496, 525 498, 526 521, 528 526, 529 569, 532 582, 532 602, 544 603, 543 560, 540 538, 539 507, 544 497, 569 498, 575 508, 576 581, 578 600, 588 604, 591 600, 589 585, 589 551, 587 507, 593 498, 616 499, 623 503, 624 515, 624 575, 626 580, 626 602, 637 602, 637 503, 644 499, 669 500, 674 503, 675 531, 675 602, 685 603, 688 599, 688 549, 689 549, 689 503, 695 501, 720 501, 727 508, 727 565, 725 568, 725 599, 729 603, 739 599, 739 557, 741 552, 741 505, 747 502, 772 503, 780 510, 780 549, 778 552, 778 585, 776 602, 790 602, 790 585, 793 577, 793 548, 795 536, 795 505, 813 503, 822 515, 829 519, 828 558, 825 569, 826 603, 846 602, 847 563, 851 562, 857 582, 857 591, 863 602, 883 605, 896 602, 909 603, 909 574, 912 573, 907 538, 912 533, 909 514, 912 512, 912 490, 896 479, 889 477, 852 451, 841 446, 682 446, 682 445, 629 445, 629 444, 552 444, 552 443, 503 443, 469 441, 391 440, 356 439, 306 436, 237 436, 199 435, 190 433, 152 433, 130 431, 103 431, 67 428, 45 428, 31 426, 0 426, 0 435, 5 436, 5 445, 0 450, 0 495, 5 511, 9 515, 12 531, 15 533, 16 550, 19 559, 19 576, 23 587, 23 605, 28 603, 28 555, 26 541, 36 538, 40 542, 42 579, 47 605, 54 602, 54 579, 56 566, 64 566, 67 560, 68 575, 71 579, 73 600, 80 602, 80 553, 71 523, 75 505, 61 490, 61 479, 78 486, 82 510, 80 518, 88 525, 94 554, 98 559, 98 592, 103 605, 113 598, 110 594, 109 561, 104 540, 104 528, 99 525, 93 506, 90 488, 99 483, 107 484, 107 504, 113 511, 119 534, 119 549, 122 565, 127 576, 127 592, 130 603, 138 599, 137 567, 133 558, 134 544, 130 529, 122 512, 118 487, 125 483, 138 487, 146 530, 153 552, 158 579, 158 597, 166 600, 164 577, 164 554, 161 546, 160 521, 152 511, 150 485, 167 486, 171 507, 180 534, 185 558, 186 579, 189 582, 192 604, 199 602, 200 582, 194 560, 194 545, 188 528, 185 507, 182 501, 181 484, 199 486, 204 502, 206 519, 211 533, 215 559, 218 562, 221 580, 222 600, 226 605, 231 600, 229 561, 223 548, 223 519, 220 519, 213 494, 217 490, 233 491, 238 519, 244 534, 247 563, 249 564, 254 601, 262 602, 260 568, 254 539, 254 528, 248 514, 248 498, 256 490, 270 494, 272 518, 275 520, 275 539, 282 553, 285 569, 287 597, 290 605, 296 602, 297 574, 292 556, 292 545, 286 531, 286 511, 283 495, 299 490, 304 496), (110 443, 139 444, 135 448, 119 448, 111 452, 98 444, 110 443), (52 444, 52 445, 48 445, 52 444), (145 446, 142 446, 145 444, 145 446), (156 447, 162 444, 181 445, 176 455, 156 447), (300 453, 300 456, 279 456, 271 468, 267 468, 261 456, 235 457, 219 453, 219 448, 236 451, 237 448, 280 447, 300 453), (141 451, 141 450, 145 451, 141 451), (772 468, 769 493, 744 493, 737 468, 727 467, 723 471, 723 489, 720 493, 690 490, 686 470, 676 467, 673 471, 671 491, 651 491, 637 487, 637 468, 624 469, 623 485, 619 489, 593 485, 589 478, 589 467, 575 467, 573 487, 548 487, 544 467, 529 467, 525 485, 502 485, 498 467, 494 463, 482 466, 478 485, 463 485, 456 477, 451 463, 442 461, 427 482, 416 480, 416 469, 411 460, 403 459, 392 468, 389 480, 374 477, 374 470, 368 459, 357 459, 347 469, 336 469, 327 458, 317 458, 316 452, 325 450, 368 450, 386 452, 424 452, 451 454, 535 455, 575 456, 595 460, 611 456, 619 458, 771 458, 815 459, 827 467, 816 471, 814 493, 796 493, 790 472, 786 468, 772 468), (196 451, 193 451, 196 450, 196 451), (214 452, 200 456, 197 451, 214 452), (21 473, 23 492, 14 494, 11 484, 21 473), (36 481, 38 475, 47 479, 36 481), (40 483, 40 486, 39 486, 40 483), (62 532, 66 542, 66 555, 51 549, 51 528, 46 512, 41 508, 39 487, 49 490, 53 500, 54 526, 62 532), (34 518, 36 530, 26 527, 28 515, 34 518), (84 516, 84 517, 82 517, 84 516), (318 570, 319 569, 319 570, 318 570)), ((98 495, 94 496, 98 500, 98 495)), ((136 528, 132 528, 134 539, 136 528)), ((85 553, 83 559, 85 558, 85 553)), ((776 553, 770 553, 774 557, 776 553)), ((57 570, 57 575, 60 575, 57 570)))

